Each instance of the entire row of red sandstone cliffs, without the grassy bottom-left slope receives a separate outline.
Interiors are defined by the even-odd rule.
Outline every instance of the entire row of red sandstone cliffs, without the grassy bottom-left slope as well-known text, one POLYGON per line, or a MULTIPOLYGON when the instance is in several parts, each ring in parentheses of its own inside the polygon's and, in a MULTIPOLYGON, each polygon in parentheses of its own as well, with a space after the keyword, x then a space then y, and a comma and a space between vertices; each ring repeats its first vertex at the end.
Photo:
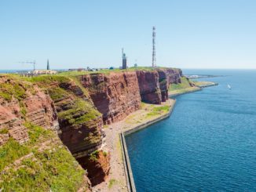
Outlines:
POLYGON ((33 86, 2 77, 0 88, 9 93, 0 92, 0 131, 7 129, 0 134, 0 146, 10 137, 20 143, 29 139, 25 120, 47 129, 60 125, 60 139, 88 170, 95 185, 109 172, 109 154, 101 151, 97 161, 90 156, 104 143, 103 122, 126 118, 140 108, 141 100, 155 104, 168 100, 170 84, 181 82, 181 75, 181 70, 170 68, 86 74, 79 77, 82 85, 71 78, 45 76, 35 78, 33 86))

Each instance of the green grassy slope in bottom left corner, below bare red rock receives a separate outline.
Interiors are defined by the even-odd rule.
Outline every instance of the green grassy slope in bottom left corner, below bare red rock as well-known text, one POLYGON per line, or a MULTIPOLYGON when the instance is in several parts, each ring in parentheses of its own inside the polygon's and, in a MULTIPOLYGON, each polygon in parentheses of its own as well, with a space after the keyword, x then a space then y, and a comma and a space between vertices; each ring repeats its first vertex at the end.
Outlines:
POLYGON ((0 189, 4 191, 76 191, 85 171, 52 130, 25 124, 30 140, 13 139, 0 147, 0 189))

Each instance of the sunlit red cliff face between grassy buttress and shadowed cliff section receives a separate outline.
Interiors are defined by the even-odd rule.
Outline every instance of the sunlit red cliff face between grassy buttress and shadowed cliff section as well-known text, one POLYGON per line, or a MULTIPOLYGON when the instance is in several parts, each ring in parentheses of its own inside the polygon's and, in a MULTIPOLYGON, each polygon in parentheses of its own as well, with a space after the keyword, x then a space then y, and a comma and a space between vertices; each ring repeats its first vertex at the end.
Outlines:
POLYGON ((120 121, 141 106, 135 72, 88 74, 81 77, 105 124, 120 121))

